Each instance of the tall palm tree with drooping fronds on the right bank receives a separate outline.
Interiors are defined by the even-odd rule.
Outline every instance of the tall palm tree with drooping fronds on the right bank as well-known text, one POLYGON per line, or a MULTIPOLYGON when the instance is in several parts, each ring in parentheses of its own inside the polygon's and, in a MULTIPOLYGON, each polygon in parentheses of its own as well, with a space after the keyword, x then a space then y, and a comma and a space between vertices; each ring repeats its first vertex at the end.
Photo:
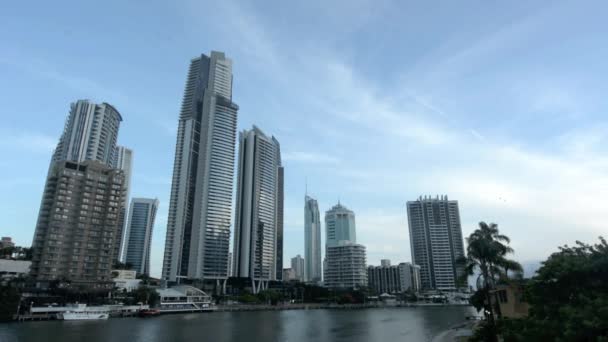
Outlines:
MULTIPOLYGON (((508 246, 511 240, 500 234, 497 224, 480 222, 479 228, 466 240, 467 257, 461 260, 464 263, 465 277, 478 272, 477 292, 484 299, 484 315, 493 329, 495 318, 491 290, 499 279, 508 278, 509 271, 521 271, 522 268, 517 261, 506 258, 507 254, 513 253, 513 248, 508 246)), ((500 317, 500 308, 497 309, 500 317)))

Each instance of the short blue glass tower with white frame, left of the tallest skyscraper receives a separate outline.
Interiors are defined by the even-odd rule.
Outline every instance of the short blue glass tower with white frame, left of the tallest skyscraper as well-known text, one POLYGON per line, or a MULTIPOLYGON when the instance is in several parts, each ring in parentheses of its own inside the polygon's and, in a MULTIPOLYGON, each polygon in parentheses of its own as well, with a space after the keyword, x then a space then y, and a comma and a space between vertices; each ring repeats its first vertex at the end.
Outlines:
POLYGON ((150 248, 157 210, 157 199, 133 198, 131 200, 124 259, 125 263, 131 264, 138 274, 150 274, 150 248))

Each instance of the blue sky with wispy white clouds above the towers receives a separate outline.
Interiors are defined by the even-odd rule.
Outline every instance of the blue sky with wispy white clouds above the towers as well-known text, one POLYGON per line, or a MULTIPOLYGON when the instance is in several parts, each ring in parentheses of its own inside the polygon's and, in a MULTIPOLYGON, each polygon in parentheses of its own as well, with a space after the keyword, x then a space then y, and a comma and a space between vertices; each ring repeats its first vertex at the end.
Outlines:
MULTIPOLYGON (((109 102, 157 197, 159 276, 189 61, 233 60, 239 130, 281 143, 285 266, 304 195, 356 215, 369 264, 410 261, 405 204, 458 200, 514 258, 608 228, 608 22, 602 1, 10 1, 0 5, 0 235, 32 241, 70 103, 109 102)), ((324 228, 324 225, 323 225, 324 228)))

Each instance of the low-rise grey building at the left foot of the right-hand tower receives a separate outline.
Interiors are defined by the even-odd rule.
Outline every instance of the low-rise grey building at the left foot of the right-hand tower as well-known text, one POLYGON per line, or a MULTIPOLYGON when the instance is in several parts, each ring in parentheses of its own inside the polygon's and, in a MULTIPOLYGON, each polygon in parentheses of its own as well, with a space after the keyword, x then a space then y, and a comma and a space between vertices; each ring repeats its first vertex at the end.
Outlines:
POLYGON ((367 267, 368 286, 378 294, 418 292, 420 288, 419 267, 410 263, 391 266, 387 259, 380 266, 367 267))

